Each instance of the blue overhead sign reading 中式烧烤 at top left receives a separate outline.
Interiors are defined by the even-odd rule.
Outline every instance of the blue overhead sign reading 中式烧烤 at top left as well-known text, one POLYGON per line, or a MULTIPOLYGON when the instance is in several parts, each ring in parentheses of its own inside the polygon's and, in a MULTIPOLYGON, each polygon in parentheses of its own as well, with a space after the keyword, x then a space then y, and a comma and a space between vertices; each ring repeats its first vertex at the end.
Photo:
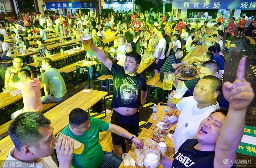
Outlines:
POLYGON ((60 8, 60 9, 74 9, 74 8, 96 8, 95 2, 45 2, 47 9, 60 8))

